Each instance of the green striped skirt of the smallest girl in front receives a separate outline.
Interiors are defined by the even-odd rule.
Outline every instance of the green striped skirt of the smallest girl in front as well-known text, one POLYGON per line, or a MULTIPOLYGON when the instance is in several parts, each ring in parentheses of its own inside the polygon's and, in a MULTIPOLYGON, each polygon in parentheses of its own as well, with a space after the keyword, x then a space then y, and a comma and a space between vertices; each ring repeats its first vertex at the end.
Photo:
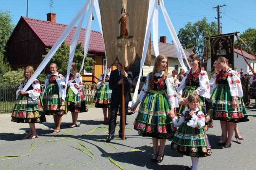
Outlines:
POLYGON ((182 123, 173 136, 171 149, 186 156, 206 157, 212 154, 204 128, 193 128, 182 123))

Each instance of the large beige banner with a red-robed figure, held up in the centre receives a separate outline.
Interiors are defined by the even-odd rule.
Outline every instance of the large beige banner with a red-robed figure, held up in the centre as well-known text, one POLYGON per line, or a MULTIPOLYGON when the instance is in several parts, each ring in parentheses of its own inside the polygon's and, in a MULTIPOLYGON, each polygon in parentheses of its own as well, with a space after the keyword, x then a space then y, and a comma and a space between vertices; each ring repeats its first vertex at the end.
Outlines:
MULTIPOLYGON (((107 66, 119 62, 130 68, 142 57, 149 0, 99 0, 107 66)), ((149 41, 145 65, 151 65, 149 41)))

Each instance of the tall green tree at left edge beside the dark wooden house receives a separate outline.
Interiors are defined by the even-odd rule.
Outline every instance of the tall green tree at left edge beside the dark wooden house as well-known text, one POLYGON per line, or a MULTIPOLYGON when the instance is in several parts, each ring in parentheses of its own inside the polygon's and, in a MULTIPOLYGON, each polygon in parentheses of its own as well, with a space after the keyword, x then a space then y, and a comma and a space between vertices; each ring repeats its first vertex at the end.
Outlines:
POLYGON ((5 52, 6 43, 15 27, 11 16, 10 11, 0 10, 0 53, 5 52))

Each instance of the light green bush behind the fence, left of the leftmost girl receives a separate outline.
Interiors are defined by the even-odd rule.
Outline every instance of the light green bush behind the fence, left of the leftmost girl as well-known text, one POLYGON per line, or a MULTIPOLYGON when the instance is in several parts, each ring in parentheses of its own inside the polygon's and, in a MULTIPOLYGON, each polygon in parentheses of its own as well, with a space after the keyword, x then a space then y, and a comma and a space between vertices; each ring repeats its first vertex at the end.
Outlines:
POLYGON ((23 78, 24 68, 8 71, 3 75, 4 84, 19 84, 24 80, 23 78))

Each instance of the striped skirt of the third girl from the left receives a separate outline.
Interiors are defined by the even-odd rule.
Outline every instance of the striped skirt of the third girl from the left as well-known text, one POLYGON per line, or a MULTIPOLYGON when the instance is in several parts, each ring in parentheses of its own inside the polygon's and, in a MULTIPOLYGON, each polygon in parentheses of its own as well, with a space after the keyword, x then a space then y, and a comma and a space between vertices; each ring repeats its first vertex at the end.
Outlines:
POLYGON ((75 94, 71 88, 68 88, 66 103, 68 111, 70 112, 88 112, 87 101, 83 89, 75 94))

